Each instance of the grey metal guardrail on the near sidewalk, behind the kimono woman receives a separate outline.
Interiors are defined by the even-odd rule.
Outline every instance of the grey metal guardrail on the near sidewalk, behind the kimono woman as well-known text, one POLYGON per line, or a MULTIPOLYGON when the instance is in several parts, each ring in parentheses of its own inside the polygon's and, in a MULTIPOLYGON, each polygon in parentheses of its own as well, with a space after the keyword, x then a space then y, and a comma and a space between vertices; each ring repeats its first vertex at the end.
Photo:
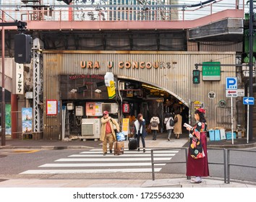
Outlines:
MULTIPOLYGON (((223 165, 223 180, 224 183, 230 183, 230 175, 231 175, 231 166, 233 167, 250 167, 250 168, 256 168, 256 166, 252 165, 252 164, 239 164, 239 163, 232 163, 231 162, 231 155, 230 153, 232 151, 239 151, 239 152, 253 152, 256 153, 256 151, 252 151, 252 150, 246 150, 246 149, 208 149, 208 150, 219 150, 223 152, 223 162, 211 162, 209 160, 208 157, 208 164, 219 164, 219 165, 223 165)), ((176 148, 168 148, 168 149, 151 149, 151 165, 152 165, 152 180, 155 180, 155 164, 187 164, 187 155, 188 155, 188 148, 184 148, 184 147, 176 147, 176 148), (154 151, 168 151, 168 150, 184 150, 184 161, 179 161, 179 162, 175 162, 175 161, 155 161, 154 159, 154 151)), ((187 176, 187 179, 190 179, 190 176, 187 176)))

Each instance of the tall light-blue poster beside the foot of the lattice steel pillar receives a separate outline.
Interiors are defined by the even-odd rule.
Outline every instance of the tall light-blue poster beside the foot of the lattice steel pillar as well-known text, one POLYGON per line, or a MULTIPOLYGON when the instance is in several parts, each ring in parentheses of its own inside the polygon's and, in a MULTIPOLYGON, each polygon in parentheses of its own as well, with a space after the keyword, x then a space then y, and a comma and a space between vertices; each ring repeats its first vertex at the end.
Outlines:
POLYGON ((32 107, 22 107, 22 133, 32 133, 33 128, 32 107))

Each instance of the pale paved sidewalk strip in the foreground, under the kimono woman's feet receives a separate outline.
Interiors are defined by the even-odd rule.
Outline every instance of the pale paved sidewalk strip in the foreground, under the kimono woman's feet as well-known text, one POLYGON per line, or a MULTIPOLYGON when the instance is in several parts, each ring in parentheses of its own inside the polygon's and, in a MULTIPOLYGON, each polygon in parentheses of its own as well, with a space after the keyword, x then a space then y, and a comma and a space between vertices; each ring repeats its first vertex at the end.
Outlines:
POLYGON ((0 188, 256 188, 253 183, 231 182, 211 177, 202 179, 202 183, 192 184, 186 177, 161 180, 127 179, 11 179, 0 180, 0 188))

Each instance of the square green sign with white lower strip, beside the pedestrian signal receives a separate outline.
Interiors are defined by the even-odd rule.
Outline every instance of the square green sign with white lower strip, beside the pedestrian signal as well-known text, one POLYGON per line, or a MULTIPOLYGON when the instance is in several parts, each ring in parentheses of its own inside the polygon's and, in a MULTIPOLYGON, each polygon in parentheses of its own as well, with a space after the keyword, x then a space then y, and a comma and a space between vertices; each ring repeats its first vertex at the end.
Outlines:
POLYGON ((203 62, 202 63, 203 81, 221 80, 221 62, 203 62))

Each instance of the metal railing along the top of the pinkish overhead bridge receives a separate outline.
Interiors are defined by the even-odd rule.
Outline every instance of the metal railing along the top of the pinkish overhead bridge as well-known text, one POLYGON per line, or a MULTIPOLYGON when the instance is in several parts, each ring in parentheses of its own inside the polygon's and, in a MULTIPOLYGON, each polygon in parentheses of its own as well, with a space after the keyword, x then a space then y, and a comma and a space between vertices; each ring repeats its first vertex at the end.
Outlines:
POLYGON ((189 6, 189 4, 101 4, 100 2, 74 2, 74 4, 10 4, 5 0, 1 4, 6 19, 22 21, 102 21, 102 20, 161 20, 161 21, 184 21, 216 14, 227 9, 243 10, 243 1, 216 0, 210 4, 201 6, 189 6), (6 2, 5 2, 6 1, 6 2))

